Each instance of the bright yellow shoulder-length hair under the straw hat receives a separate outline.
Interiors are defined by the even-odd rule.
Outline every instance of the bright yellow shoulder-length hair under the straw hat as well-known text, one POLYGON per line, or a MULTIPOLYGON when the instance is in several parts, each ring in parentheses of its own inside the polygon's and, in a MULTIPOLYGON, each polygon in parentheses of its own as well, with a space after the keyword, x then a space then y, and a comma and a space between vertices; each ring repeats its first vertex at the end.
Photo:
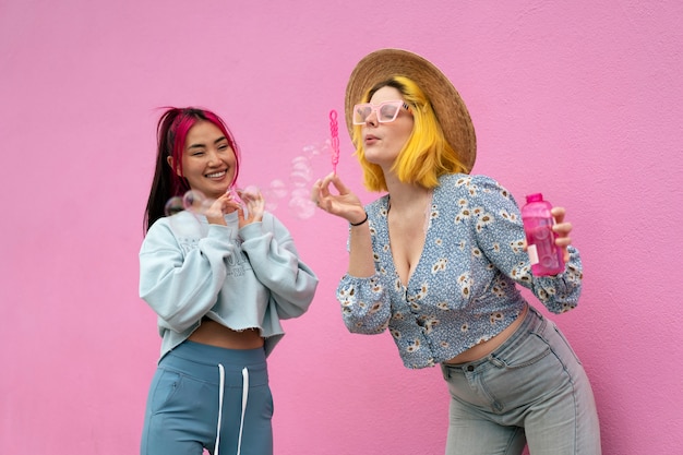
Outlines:
MULTIPOLYGON (((369 103, 376 91, 386 86, 400 92, 414 120, 412 132, 392 167, 398 179, 404 183, 418 183, 431 189, 439 185, 439 178, 443 175, 467 172, 467 168, 446 141, 427 95, 412 80, 393 76, 380 82, 366 93, 360 103, 369 103)), ((355 155, 363 170, 366 188, 370 191, 388 191, 382 168, 366 159, 361 125, 354 125, 352 141, 357 147, 355 155)))

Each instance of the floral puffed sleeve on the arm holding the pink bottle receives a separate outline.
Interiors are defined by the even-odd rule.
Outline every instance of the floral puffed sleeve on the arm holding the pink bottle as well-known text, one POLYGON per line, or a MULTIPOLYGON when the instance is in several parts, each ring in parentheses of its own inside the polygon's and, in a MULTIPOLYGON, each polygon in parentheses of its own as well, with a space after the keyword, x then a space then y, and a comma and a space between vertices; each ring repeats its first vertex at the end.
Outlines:
POLYGON ((576 248, 570 246, 570 261, 563 273, 537 277, 531 274, 529 256, 524 251, 524 227, 519 207, 512 194, 486 176, 469 181, 471 229, 481 252, 503 274, 534 295, 553 313, 573 309, 578 303, 583 268, 576 248))

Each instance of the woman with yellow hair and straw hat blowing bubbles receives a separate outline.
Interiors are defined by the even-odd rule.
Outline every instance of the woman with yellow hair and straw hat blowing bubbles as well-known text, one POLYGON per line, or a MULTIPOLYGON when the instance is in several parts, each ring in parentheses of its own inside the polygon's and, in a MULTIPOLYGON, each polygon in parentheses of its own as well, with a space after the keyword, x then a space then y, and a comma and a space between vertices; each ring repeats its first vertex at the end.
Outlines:
POLYGON ((582 263, 564 209, 553 215, 565 270, 534 276, 519 208, 494 179, 469 175, 475 130, 446 76, 411 52, 363 58, 346 121, 366 187, 363 206, 332 173, 312 189, 349 223, 337 299, 350 332, 388 328, 407 368, 440 366, 451 393, 446 454, 600 454, 588 378, 551 312, 576 307, 582 263), (332 188, 331 188, 332 187, 332 188))

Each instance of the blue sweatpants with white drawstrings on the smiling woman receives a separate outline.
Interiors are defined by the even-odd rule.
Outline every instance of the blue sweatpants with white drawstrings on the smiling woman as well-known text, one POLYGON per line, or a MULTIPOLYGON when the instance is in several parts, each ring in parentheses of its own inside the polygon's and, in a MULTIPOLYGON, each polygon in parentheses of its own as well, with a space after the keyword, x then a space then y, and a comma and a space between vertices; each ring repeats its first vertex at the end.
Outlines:
POLYGON ((140 453, 273 455, 272 417, 263 349, 184 342, 152 380, 140 453))

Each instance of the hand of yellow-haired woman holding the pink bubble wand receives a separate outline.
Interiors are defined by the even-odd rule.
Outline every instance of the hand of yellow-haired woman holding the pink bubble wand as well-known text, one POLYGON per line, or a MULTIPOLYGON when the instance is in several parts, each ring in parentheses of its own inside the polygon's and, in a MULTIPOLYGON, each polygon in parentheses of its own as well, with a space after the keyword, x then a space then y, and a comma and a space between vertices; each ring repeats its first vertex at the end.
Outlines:
POLYGON ((360 223, 366 218, 366 209, 360 199, 344 184, 335 172, 313 184, 311 201, 323 211, 339 216, 350 224, 360 223), (337 194, 329 191, 331 184, 336 189, 337 194))

